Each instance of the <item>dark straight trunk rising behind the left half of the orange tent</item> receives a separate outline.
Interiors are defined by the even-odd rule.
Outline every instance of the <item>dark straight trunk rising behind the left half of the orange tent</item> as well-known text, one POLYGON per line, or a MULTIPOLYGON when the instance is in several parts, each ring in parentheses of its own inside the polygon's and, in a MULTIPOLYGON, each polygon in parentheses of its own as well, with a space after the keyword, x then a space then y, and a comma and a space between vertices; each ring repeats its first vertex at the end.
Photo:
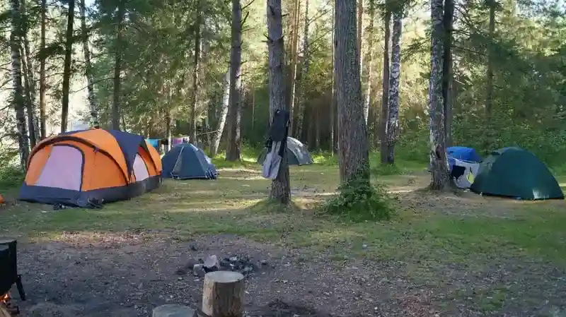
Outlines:
POLYGON ((63 100, 61 104, 61 133, 67 131, 69 119, 69 88, 71 87, 71 61, 73 56, 73 20, 75 17, 75 1, 69 0, 67 11, 67 33, 65 35, 65 61, 63 71, 63 100))

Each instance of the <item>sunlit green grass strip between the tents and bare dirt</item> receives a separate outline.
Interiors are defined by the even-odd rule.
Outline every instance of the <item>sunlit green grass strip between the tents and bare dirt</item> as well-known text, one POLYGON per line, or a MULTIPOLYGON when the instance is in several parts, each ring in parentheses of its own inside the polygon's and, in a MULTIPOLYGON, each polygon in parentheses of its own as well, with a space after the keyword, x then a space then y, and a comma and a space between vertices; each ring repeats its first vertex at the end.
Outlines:
MULTIPOLYGON (((473 265, 501 257, 540 258, 566 264, 566 213, 564 202, 509 203, 513 217, 498 217, 502 203, 477 205, 482 212, 469 215, 458 208, 444 213, 443 198, 432 198, 412 209, 411 198, 401 196, 397 214, 388 222, 351 223, 320 216, 317 208, 335 191, 337 169, 324 166, 291 167, 294 203, 291 210, 274 213, 262 204, 270 181, 258 167, 221 169, 214 181, 166 181, 161 189, 100 210, 52 210, 47 205, 16 204, 0 210, 0 235, 56 237, 61 232, 123 232, 145 230, 193 234, 239 234, 257 241, 322 251, 336 258, 357 256, 405 263, 461 263, 473 265), (435 200, 436 199, 436 200, 435 200), (493 215, 492 215, 493 213, 493 215)), ((415 190, 427 181, 406 175, 379 177, 389 189, 415 190), (415 184, 411 179, 416 179, 415 184), (409 180, 409 181, 408 181, 409 180), (412 187, 411 187, 412 186, 412 187)), ((473 201, 468 201, 470 205, 473 201)), ((469 207, 469 206, 468 206, 469 207)))

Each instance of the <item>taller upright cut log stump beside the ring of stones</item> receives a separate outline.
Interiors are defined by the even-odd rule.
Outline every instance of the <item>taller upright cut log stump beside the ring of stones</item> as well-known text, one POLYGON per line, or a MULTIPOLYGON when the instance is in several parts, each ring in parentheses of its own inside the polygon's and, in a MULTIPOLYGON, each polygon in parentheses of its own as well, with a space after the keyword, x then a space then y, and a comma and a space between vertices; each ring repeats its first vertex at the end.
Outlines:
POLYGON ((244 277, 241 273, 216 271, 204 275, 202 312, 211 317, 243 316, 244 277))

